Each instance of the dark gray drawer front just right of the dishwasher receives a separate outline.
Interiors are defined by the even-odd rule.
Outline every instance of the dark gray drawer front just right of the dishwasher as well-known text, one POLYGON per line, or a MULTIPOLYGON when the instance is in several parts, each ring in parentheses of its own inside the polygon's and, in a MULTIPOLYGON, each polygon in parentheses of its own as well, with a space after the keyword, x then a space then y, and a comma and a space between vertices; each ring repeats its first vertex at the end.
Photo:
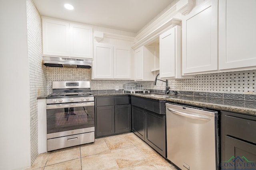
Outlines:
POLYGON ((256 120, 225 115, 226 134, 256 144, 256 120))

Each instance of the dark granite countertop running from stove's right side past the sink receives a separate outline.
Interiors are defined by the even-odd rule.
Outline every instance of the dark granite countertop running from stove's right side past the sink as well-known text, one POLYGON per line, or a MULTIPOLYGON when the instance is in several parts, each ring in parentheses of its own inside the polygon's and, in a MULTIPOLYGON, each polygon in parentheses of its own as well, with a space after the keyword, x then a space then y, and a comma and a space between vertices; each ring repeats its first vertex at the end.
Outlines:
MULTIPOLYGON (((155 93, 153 93, 155 94, 155 93)), ((113 96, 113 95, 132 95, 144 98, 150 98, 155 100, 166 100, 167 102, 177 102, 180 104, 188 104, 193 106, 207 107, 216 110, 231 111, 236 113, 243 113, 247 115, 256 116, 256 102, 248 102, 241 100, 225 100, 219 98, 208 97, 195 97, 195 96, 183 96, 183 95, 165 95, 166 97, 149 96, 145 94, 131 94, 131 93, 94 93, 94 96, 113 96)))

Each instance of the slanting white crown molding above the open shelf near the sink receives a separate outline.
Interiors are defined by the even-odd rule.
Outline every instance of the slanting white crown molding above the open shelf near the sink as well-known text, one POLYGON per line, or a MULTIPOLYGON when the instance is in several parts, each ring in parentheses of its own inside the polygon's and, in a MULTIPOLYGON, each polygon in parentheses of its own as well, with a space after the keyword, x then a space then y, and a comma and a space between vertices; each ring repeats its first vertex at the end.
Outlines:
POLYGON ((138 49, 139 47, 146 45, 153 41, 154 39, 158 38, 160 34, 164 33, 167 29, 170 29, 176 25, 180 25, 182 20, 177 18, 170 18, 168 21, 163 23, 162 25, 158 26, 156 29, 152 30, 148 33, 144 38, 140 39, 137 43, 132 45, 132 49, 138 49))

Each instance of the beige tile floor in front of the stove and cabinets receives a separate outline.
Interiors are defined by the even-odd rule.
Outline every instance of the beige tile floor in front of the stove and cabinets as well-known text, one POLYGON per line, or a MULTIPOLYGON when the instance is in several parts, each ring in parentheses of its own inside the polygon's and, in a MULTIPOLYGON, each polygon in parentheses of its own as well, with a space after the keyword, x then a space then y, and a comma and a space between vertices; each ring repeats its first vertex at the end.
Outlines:
POLYGON ((28 170, 176 170, 134 133, 39 154, 28 170))

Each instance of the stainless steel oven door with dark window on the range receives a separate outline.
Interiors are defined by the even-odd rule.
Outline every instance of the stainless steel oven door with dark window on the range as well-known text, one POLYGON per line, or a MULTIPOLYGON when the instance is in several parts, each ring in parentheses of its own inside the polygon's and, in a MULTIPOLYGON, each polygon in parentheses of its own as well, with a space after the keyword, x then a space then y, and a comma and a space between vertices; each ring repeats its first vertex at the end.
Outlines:
POLYGON ((47 139, 94 132, 94 102, 46 105, 47 139))

